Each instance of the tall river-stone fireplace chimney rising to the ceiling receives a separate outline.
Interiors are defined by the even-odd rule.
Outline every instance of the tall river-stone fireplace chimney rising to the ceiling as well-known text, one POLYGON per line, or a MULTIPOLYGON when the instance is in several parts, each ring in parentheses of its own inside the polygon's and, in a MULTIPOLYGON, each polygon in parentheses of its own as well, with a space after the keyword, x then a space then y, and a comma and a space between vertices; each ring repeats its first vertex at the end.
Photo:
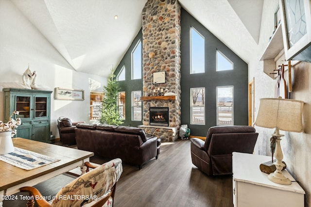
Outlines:
POLYGON ((160 88, 177 95, 142 97, 143 125, 139 127, 164 141, 178 139, 180 127, 180 12, 177 0, 148 0, 142 10, 143 91, 152 94, 160 88), (153 73, 162 71, 165 82, 153 83, 153 73), (152 107, 168 108, 168 126, 150 125, 152 107))

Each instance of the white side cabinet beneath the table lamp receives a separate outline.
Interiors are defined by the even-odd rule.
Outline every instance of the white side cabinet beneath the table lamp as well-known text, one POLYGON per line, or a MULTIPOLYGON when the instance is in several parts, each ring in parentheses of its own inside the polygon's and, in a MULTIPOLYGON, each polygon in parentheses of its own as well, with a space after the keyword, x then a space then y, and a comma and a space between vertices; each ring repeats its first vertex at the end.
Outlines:
POLYGON ((268 179, 259 165, 271 160, 270 156, 232 153, 234 207, 303 207, 305 191, 284 170, 291 185, 280 185, 268 179))

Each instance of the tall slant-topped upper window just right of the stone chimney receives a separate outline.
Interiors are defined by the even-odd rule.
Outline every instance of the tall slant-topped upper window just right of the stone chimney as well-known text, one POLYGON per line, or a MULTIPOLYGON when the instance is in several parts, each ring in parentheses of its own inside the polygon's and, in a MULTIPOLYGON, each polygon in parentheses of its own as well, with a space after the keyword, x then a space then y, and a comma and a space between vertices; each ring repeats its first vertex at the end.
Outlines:
POLYGON ((190 29, 190 74, 205 72, 204 37, 193 27, 190 29))

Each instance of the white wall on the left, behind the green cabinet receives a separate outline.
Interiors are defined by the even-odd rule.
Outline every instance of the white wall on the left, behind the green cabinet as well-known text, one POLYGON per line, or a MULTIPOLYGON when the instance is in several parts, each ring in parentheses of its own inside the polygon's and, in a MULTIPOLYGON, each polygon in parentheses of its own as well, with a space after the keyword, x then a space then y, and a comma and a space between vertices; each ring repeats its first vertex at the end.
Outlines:
MULTIPOLYGON (((0 83, 22 82, 27 69, 37 72, 37 84, 85 90, 85 100, 54 100, 51 103, 51 131, 59 137, 56 119, 67 116, 72 121, 89 122, 89 79, 101 83, 107 79, 71 69, 67 61, 47 39, 19 12, 10 0, 0 0, 0 83)), ((90 68, 90 70, 99 68, 90 68)), ((3 92, 0 86, 0 120, 3 120, 3 92)))

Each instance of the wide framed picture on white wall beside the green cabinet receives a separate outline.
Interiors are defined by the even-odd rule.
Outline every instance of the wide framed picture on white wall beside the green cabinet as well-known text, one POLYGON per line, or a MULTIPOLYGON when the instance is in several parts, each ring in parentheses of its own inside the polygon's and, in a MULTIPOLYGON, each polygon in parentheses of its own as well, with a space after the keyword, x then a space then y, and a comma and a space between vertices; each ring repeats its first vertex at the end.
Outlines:
POLYGON ((84 100, 84 90, 55 88, 54 99, 56 100, 84 100))

